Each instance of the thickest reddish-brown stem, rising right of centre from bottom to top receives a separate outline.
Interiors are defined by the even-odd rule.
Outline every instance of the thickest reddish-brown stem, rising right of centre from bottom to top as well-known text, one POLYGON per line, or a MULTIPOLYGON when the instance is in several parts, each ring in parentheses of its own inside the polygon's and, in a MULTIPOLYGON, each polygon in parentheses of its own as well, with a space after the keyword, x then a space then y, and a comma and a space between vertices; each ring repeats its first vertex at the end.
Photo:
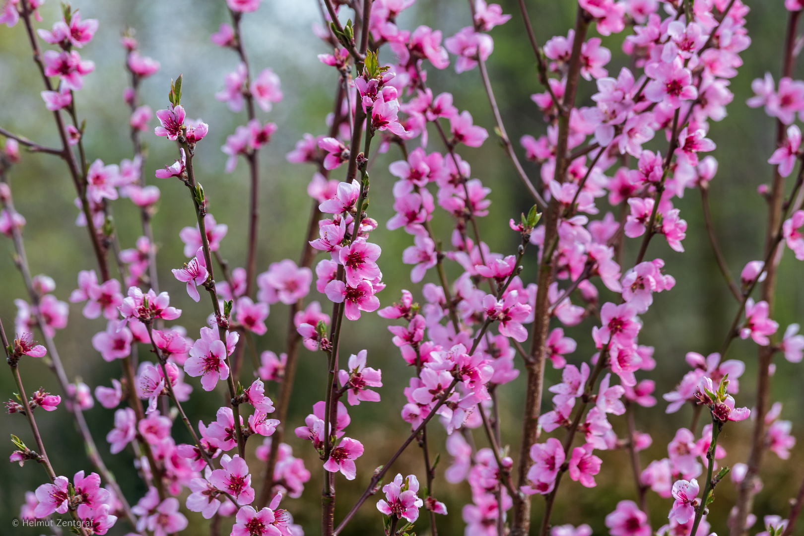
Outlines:
MULTIPOLYGON (((520 6, 521 7, 521 6, 520 6)), ((567 88, 564 92, 564 103, 559 108, 558 137, 556 139, 556 172, 554 178, 557 182, 564 182, 569 166, 567 141, 569 135, 569 111, 575 105, 575 95, 580 76, 580 47, 584 43, 589 19, 585 11, 579 6, 576 14, 575 39, 572 41, 572 55, 570 56, 567 73, 567 88)), ((538 52, 537 52, 538 56, 538 52)), ((531 445, 535 443, 538 428, 539 413, 541 410, 542 391, 544 389, 544 343, 547 340, 550 325, 548 288, 552 282, 553 251, 555 248, 560 207, 553 198, 544 211, 544 251, 539 264, 537 276, 538 289, 536 291, 535 320, 531 335, 530 360, 527 365, 527 390, 525 391, 525 404, 523 416, 522 444, 519 448, 519 465, 517 469, 517 488, 527 483, 527 472, 533 461, 531 460, 531 445)), ((530 497, 513 496, 514 509, 511 519, 511 536, 526 536, 531 526, 531 499, 530 497)))

